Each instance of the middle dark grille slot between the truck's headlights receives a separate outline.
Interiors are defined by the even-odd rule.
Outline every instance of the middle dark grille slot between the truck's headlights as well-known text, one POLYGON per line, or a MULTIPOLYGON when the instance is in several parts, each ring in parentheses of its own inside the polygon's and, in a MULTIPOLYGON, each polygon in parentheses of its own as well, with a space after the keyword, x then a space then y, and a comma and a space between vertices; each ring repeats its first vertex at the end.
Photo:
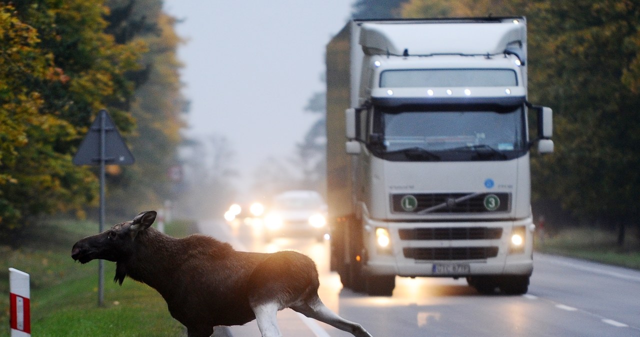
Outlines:
POLYGON ((411 228, 398 230, 398 233, 401 240, 495 240, 502 237, 502 228, 411 228))

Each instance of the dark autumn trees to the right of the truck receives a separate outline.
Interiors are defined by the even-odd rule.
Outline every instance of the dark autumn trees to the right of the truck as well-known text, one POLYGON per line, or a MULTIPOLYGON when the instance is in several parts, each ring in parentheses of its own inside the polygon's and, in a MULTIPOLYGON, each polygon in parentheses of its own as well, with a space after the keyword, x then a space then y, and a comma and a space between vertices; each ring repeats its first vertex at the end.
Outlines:
POLYGON ((633 1, 540 1, 545 24, 531 47, 536 97, 553 104, 557 151, 539 169, 545 191, 590 221, 636 223, 640 175, 637 71, 640 4, 633 1), (588 70, 588 71, 586 71, 588 70))

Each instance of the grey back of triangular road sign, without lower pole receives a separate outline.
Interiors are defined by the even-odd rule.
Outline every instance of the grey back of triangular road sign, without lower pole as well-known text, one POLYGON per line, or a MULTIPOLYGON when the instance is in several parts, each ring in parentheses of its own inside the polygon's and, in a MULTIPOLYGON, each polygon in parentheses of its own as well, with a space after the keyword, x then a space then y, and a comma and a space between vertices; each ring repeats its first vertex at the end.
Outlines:
POLYGON ((100 138, 104 127, 104 161, 110 165, 131 165, 135 162, 129 148, 120 136, 118 128, 106 110, 100 110, 93 120, 89 132, 84 136, 78 152, 74 156, 74 165, 100 165, 100 138))

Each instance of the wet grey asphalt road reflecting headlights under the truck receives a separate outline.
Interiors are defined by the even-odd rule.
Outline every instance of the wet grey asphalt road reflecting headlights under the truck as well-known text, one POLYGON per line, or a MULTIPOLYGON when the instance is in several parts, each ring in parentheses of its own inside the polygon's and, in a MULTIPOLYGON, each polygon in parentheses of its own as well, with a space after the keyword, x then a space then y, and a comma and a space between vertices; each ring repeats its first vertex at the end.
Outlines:
MULTIPOLYGON (((329 272, 328 242, 276 239, 260 228, 203 221, 200 231, 243 251, 296 249, 316 261, 319 294, 340 316, 373 336, 640 336, 640 272, 557 256, 534 255, 525 295, 481 295, 463 279, 397 278, 392 297, 369 297, 342 289, 329 272)), ((285 337, 351 336, 334 327, 278 313, 285 337)), ((233 337, 260 336, 257 325, 230 327, 233 337)))

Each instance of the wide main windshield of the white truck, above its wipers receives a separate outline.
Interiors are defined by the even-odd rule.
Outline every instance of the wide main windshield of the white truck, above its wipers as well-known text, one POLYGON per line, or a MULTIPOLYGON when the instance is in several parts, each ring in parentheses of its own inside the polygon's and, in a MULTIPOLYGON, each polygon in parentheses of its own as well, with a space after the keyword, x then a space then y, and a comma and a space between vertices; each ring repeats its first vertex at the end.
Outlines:
POLYGON ((500 161, 527 151, 522 106, 374 107, 374 154, 390 161, 500 161))

